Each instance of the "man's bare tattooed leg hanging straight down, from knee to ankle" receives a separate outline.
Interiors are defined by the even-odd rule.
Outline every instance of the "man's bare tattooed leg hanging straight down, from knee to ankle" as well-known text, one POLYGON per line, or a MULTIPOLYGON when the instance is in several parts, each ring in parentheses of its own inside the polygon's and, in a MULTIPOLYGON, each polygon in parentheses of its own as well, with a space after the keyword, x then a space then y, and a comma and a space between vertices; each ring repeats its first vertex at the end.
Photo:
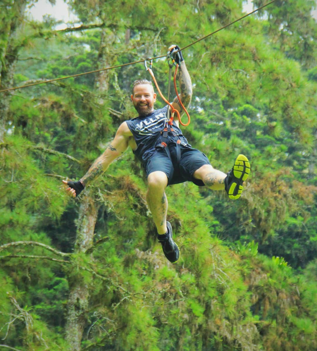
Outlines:
POLYGON ((167 232, 166 216, 168 202, 165 194, 168 179, 164 172, 155 171, 148 176, 147 203, 150 207, 158 234, 167 232))

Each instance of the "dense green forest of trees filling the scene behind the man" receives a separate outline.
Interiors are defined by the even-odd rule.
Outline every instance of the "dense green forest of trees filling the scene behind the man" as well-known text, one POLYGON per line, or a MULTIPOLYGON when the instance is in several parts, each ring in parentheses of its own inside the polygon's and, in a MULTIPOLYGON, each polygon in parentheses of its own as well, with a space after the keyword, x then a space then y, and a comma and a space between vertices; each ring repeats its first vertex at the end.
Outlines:
MULTIPOLYGON (((0 3, 0 90, 166 55, 244 15, 241 0, 68 0, 79 23, 57 30, 27 16, 34 3, 0 3)), ((237 201, 167 188, 174 265, 132 152, 78 199, 61 182, 135 117, 142 63, 0 92, 1 350, 317 349, 313 9, 275 1, 183 50, 184 134, 225 172, 247 155, 251 175, 237 201)), ((166 95, 165 57, 153 71, 166 95)))

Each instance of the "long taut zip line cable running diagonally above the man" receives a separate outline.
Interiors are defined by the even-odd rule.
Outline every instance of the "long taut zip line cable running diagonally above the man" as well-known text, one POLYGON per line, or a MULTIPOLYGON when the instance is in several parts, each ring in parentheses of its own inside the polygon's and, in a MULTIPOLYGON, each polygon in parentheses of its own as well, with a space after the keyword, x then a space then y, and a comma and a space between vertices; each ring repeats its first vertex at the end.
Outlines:
MULTIPOLYGON (((225 26, 223 26, 223 27, 217 29, 216 31, 205 35, 205 37, 202 37, 202 38, 200 38, 200 39, 198 39, 198 40, 196 40, 196 41, 194 41, 194 42, 192 42, 192 43, 190 43, 190 44, 184 46, 183 48, 180 49, 180 51, 181 51, 181 50, 184 50, 184 49, 186 49, 186 48, 188 48, 188 47, 190 47, 190 46, 192 46, 192 45, 194 45, 194 44, 196 44, 196 43, 198 43, 198 42, 201 41, 201 40, 204 40, 204 39, 210 37, 211 35, 213 35, 213 34, 219 32, 219 31, 221 31, 222 29, 225 29, 225 28, 227 28, 227 27, 233 25, 234 23, 236 23, 236 22, 238 22, 238 21, 240 21, 240 20, 246 18, 247 16, 252 15, 253 13, 255 13, 255 12, 257 12, 257 11, 263 9, 263 8, 266 7, 266 6, 269 6, 269 5, 273 4, 273 2, 276 2, 276 1, 278 1, 278 0, 272 0, 272 1, 268 2, 267 4, 264 4, 263 6, 260 6, 259 8, 253 10, 252 12, 247 13, 246 15, 244 15, 244 16, 242 16, 242 17, 236 19, 236 20, 234 20, 233 22, 230 22, 229 24, 227 24, 227 25, 225 25, 225 26)), ((153 58, 151 58, 151 60, 161 59, 161 58, 163 58, 163 57, 166 57, 166 55, 153 57, 153 58)), ((107 67, 107 68, 96 69, 95 71, 90 71, 90 72, 84 72, 84 73, 78 73, 78 74, 68 75, 68 76, 66 76, 66 77, 54 78, 54 79, 50 79, 50 80, 45 80, 45 81, 43 81, 43 82, 31 83, 31 84, 22 85, 22 86, 18 86, 18 87, 14 87, 14 88, 7 88, 7 89, 0 90, 0 93, 4 93, 4 92, 6 92, 6 91, 11 91, 11 90, 17 90, 17 89, 21 89, 21 88, 26 88, 26 87, 30 87, 30 86, 34 86, 34 85, 39 85, 39 84, 46 84, 46 83, 56 82, 56 81, 62 80, 62 79, 68 79, 68 78, 79 77, 79 76, 85 75, 85 74, 97 73, 97 72, 101 72, 101 71, 108 71, 109 69, 114 69, 114 68, 129 66, 129 65, 135 65, 135 64, 138 64, 138 63, 143 63, 143 62, 146 61, 146 60, 148 60, 148 59, 143 59, 143 60, 139 60, 139 61, 129 62, 129 63, 127 63, 127 64, 122 64, 122 65, 117 65, 117 66, 112 66, 112 67, 107 67)))

